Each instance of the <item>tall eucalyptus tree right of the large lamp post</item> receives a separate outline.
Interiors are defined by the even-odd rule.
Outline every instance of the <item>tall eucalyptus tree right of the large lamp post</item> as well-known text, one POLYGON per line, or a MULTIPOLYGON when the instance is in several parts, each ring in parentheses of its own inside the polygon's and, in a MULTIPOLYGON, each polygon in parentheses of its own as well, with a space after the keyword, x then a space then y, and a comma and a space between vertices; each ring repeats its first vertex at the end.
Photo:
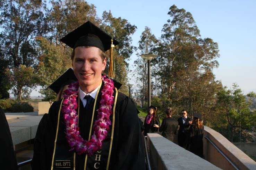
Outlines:
POLYGON ((201 38, 190 12, 175 5, 169 10, 171 19, 163 26, 158 57, 152 61, 159 94, 169 101, 163 102, 163 108, 173 106, 177 112, 186 108, 192 115, 212 113, 215 90, 221 87, 212 71, 218 67, 218 45, 211 38, 201 38))

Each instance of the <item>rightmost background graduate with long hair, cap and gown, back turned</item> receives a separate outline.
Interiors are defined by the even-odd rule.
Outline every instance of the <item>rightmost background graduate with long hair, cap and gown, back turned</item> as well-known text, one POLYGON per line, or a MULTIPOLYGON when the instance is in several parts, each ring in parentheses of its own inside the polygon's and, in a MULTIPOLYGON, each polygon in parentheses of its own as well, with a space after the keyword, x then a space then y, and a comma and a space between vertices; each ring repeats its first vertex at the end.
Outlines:
POLYGON ((203 136, 204 125, 202 115, 194 113, 193 124, 190 125, 187 144, 190 145, 189 151, 203 158, 203 136))

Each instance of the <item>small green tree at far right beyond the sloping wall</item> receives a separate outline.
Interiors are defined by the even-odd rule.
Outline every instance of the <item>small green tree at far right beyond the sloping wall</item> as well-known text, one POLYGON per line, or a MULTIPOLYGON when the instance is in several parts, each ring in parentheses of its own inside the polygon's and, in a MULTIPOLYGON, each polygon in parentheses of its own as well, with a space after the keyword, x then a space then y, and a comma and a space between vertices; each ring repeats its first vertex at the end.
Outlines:
MULTIPOLYGON (((251 92, 248 96, 254 96, 251 92)), ((256 128, 256 112, 250 111, 251 99, 246 100, 246 97, 242 93, 237 84, 233 84, 232 89, 223 87, 217 93, 217 108, 220 111, 221 116, 230 126, 229 139, 231 142, 234 140, 234 134, 236 131, 242 130, 254 130, 256 128)))

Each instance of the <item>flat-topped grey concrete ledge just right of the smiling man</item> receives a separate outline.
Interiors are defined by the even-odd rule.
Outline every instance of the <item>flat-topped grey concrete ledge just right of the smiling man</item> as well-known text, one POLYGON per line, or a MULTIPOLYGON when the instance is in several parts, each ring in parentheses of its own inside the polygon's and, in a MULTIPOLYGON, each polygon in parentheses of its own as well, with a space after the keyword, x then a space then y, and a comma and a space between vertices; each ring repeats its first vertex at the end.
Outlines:
POLYGON ((219 170, 210 162, 198 157, 157 133, 147 133, 151 168, 157 170, 219 170))

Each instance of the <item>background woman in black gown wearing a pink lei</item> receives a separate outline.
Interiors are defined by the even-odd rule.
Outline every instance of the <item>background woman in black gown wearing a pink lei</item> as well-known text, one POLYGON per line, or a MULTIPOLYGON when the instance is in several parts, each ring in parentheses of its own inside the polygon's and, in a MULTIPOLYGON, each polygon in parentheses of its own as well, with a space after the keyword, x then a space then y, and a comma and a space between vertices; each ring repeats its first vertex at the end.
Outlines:
POLYGON ((144 135, 146 136, 147 133, 155 133, 157 132, 159 126, 160 126, 160 121, 158 117, 156 116, 156 109, 157 107, 150 106, 149 112, 147 116, 145 117, 144 121, 144 135))

